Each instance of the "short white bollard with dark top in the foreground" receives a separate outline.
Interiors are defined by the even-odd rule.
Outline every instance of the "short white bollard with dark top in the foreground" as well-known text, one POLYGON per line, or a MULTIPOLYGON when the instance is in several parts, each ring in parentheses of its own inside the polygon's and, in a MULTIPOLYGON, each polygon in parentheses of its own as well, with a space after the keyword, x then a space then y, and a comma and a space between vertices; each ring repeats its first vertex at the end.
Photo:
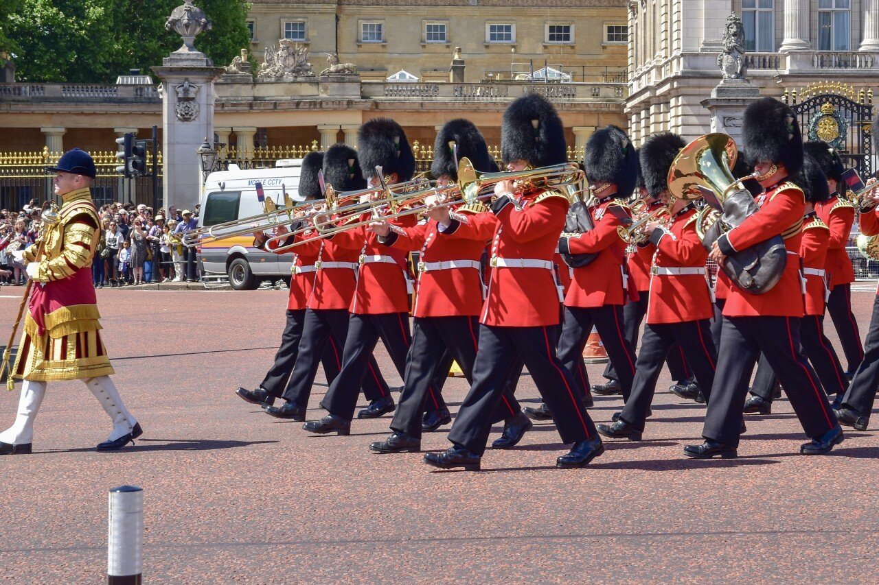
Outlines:
POLYGON ((142 488, 120 486, 110 490, 108 524, 108 585, 140 585, 143 561, 142 488))

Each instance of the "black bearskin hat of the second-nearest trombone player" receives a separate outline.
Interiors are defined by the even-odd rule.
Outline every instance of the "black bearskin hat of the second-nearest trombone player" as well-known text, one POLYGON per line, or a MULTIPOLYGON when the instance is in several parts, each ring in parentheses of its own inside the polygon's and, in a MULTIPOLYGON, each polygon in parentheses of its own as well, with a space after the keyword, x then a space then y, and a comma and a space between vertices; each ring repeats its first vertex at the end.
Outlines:
POLYGON ((452 119, 446 122, 433 141, 433 164, 431 174, 434 178, 447 175, 453 181, 458 179, 458 161, 467 157, 473 168, 483 172, 497 172, 498 164, 489 154, 483 134, 469 119, 452 119))

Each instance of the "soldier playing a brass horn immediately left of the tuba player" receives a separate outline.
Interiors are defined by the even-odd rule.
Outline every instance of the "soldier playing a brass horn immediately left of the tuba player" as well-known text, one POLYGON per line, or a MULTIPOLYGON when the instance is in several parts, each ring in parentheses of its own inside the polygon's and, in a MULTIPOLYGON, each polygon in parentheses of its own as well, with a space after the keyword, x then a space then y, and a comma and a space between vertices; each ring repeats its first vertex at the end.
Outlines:
POLYGON ((696 234, 693 202, 675 199, 668 190, 668 171, 686 143, 677 134, 653 134, 641 148, 641 170, 650 197, 660 199, 671 220, 655 220, 645 231, 656 251, 650 260, 647 325, 638 352, 632 394, 611 425, 599 424, 605 437, 640 441, 650 402, 668 354, 679 345, 708 400, 714 384, 717 355, 711 341, 713 314, 706 278, 708 252, 696 234))

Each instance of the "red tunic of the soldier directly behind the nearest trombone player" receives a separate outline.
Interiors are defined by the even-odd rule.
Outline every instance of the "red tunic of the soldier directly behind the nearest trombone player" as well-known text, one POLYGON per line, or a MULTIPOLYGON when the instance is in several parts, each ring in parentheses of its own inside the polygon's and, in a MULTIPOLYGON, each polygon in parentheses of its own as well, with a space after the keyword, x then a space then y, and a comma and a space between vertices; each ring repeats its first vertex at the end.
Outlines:
POLYGON ((594 226, 579 235, 562 235, 558 246, 571 254, 598 254, 590 264, 574 269, 574 282, 564 298, 565 307, 602 307, 626 302, 622 284, 622 265, 626 242, 617 233, 622 225, 615 213, 628 216, 628 210, 613 198, 602 199, 592 209, 594 226))

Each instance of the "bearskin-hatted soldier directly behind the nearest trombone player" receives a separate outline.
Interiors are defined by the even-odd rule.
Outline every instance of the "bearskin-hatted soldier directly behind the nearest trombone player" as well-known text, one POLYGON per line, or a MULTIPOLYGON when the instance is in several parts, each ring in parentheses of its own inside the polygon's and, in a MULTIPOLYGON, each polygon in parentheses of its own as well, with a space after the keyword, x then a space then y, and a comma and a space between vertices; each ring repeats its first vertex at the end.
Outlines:
MULTIPOLYGON (((584 234, 563 234, 558 249, 566 254, 598 257, 574 269, 574 281, 564 298, 558 358, 573 372, 594 325, 619 375, 623 400, 628 400, 636 356, 622 329, 628 277, 623 266, 626 242, 617 233, 617 227, 631 219, 619 199, 627 198, 635 188, 638 156, 626 133, 616 126, 607 126, 589 137, 584 164, 592 194, 598 199, 592 206, 594 228, 584 234)), ((585 384, 584 394, 589 388, 588 381, 585 384)))

